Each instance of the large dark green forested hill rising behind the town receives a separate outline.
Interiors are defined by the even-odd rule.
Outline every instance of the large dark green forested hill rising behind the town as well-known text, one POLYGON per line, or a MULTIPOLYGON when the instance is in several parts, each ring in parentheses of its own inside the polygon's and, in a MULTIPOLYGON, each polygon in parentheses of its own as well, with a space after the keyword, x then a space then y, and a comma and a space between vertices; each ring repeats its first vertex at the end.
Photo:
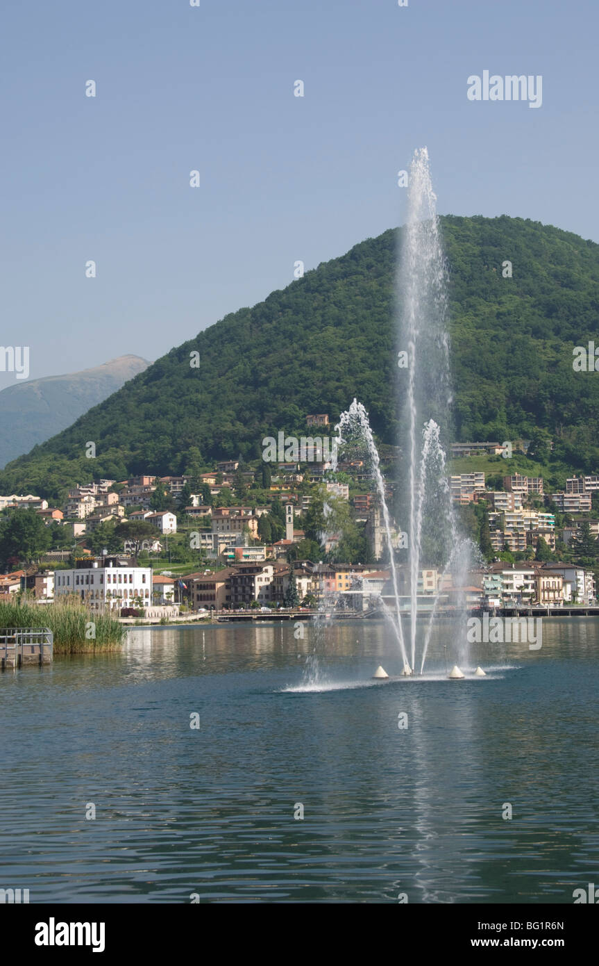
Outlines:
MULTIPOLYGON (((599 469, 599 372, 572 366, 575 346, 599 346, 599 245, 521 218, 442 221, 456 438, 540 431, 554 458, 599 469)), ((0 493, 58 498, 92 476, 177 473, 190 447, 206 463, 258 459, 264 436, 301 433, 306 413, 336 417, 354 396, 393 441, 396 241, 395 230, 363 241, 173 349, 10 464, 0 493), (89 440, 95 460, 85 456, 89 440)))

